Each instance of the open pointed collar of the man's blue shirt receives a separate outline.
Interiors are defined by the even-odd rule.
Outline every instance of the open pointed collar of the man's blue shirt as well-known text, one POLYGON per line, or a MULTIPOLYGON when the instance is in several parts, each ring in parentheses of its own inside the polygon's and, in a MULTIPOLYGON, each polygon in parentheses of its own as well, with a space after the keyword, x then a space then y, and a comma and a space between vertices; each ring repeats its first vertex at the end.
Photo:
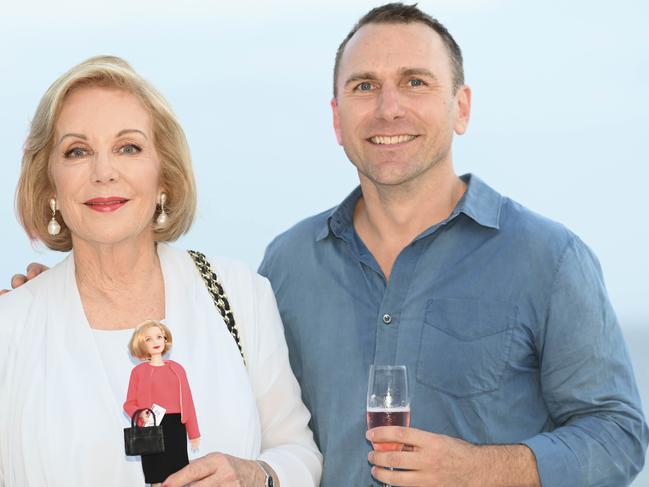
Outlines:
MULTIPOLYGON (((483 227, 498 230, 503 197, 474 174, 464 174, 460 179, 467 184, 467 190, 446 222, 463 213, 483 227)), ((330 233, 341 237, 352 228, 354 209, 362 194, 361 187, 357 186, 342 203, 329 211, 316 241, 326 238, 330 233)))

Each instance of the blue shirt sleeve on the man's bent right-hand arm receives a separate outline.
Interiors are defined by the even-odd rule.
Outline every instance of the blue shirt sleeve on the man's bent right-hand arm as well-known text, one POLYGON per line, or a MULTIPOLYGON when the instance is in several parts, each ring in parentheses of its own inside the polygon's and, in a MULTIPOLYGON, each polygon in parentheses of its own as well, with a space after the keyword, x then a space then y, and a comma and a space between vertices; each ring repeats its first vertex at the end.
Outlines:
POLYGON ((537 346, 556 429, 523 443, 542 485, 628 485, 642 469, 649 433, 601 268, 576 237, 557 267, 537 346))

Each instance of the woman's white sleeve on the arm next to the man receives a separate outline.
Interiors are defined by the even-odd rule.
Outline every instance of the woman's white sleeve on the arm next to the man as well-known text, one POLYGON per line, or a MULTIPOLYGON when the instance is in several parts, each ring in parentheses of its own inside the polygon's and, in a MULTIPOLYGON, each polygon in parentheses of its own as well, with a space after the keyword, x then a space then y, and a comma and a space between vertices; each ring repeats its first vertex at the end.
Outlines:
POLYGON ((259 460, 275 470, 282 487, 315 487, 322 455, 308 426, 311 415, 291 371, 277 303, 265 278, 255 282, 255 301, 256 349, 250 351, 248 365, 262 428, 259 460))

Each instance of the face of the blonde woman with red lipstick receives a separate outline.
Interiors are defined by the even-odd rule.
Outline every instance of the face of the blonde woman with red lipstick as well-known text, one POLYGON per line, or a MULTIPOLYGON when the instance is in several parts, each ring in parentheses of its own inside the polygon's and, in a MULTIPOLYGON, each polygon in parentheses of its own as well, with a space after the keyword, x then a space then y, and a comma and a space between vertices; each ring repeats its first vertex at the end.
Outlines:
POLYGON ((50 171, 72 244, 153 241, 160 159, 151 116, 117 89, 73 89, 56 121, 50 171))

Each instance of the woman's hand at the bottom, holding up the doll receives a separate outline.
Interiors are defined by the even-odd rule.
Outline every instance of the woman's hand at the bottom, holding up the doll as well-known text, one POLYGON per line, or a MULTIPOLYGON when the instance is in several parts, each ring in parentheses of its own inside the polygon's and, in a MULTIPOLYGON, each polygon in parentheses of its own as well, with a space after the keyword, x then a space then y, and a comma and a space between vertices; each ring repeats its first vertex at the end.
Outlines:
POLYGON ((195 487, 259 487, 266 475, 257 462, 210 453, 190 462, 182 470, 170 475, 163 487, 183 487, 192 482, 195 487))

